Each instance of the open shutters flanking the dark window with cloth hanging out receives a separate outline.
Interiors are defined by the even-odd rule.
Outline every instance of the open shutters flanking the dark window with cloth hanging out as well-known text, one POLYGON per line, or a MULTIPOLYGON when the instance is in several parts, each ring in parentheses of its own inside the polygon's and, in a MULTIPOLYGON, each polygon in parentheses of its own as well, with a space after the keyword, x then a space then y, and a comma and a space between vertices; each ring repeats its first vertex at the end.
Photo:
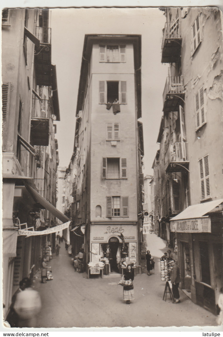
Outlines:
POLYGON ((99 81, 99 97, 98 97, 98 104, 107 104, 107 82, 118 82, 119 83, 119 104, 127 104, 127 81, 99 81), (123 86, 125 88, 123 88, 123 86), (125 89, 125 91, 121 91, 121 89, 125 89), (122 101, 123 94, 125 94, 125 102, 122 101), (102 96, 103 95, 103 96, 102 96), (102 99, 103 97, 103 99, 102 99))

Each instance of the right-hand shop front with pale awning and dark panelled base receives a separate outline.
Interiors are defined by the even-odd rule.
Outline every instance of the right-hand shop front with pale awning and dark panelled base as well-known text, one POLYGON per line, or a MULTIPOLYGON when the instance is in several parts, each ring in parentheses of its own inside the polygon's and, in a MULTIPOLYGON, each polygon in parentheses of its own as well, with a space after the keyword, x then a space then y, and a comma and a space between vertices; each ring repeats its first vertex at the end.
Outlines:
POLYGON ((176 233, 181 288, 191 300, 217 314, 223 283, 223 200, 189 206, 171 219, 176 233))

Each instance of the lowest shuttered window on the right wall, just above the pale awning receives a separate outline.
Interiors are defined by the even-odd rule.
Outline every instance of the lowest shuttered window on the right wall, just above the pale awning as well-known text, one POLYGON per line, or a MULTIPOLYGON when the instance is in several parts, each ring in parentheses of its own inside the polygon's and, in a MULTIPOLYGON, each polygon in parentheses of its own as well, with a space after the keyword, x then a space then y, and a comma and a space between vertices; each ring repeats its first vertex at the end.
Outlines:
POLYGON ((199 167, 201 180, 201 200, 205 200, 211 197, 208 155, 199 160, 199 167))

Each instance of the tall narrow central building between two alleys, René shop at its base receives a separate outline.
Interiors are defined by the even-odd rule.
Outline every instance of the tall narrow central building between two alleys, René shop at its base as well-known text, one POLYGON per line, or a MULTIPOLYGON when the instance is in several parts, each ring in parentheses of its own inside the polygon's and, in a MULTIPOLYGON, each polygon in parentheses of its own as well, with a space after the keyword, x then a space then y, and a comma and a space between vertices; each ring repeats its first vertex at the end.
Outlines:
POLYGON ((124 261, 138 273, 144 183, 140 35, 85 35, 76 118, 65 177, 74 252, 84 247, 89 274, 100 272, 93 267, 101 257, 107 273, 122 273, 124 261))

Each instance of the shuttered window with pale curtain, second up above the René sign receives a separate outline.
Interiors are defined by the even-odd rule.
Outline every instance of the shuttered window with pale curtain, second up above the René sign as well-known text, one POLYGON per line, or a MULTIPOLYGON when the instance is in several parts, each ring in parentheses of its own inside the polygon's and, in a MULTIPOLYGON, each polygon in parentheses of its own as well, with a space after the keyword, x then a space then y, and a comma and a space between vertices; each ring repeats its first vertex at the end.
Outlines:
POLYGON ((127 158, 102 158, 102 179, 127 179, 127 158))

